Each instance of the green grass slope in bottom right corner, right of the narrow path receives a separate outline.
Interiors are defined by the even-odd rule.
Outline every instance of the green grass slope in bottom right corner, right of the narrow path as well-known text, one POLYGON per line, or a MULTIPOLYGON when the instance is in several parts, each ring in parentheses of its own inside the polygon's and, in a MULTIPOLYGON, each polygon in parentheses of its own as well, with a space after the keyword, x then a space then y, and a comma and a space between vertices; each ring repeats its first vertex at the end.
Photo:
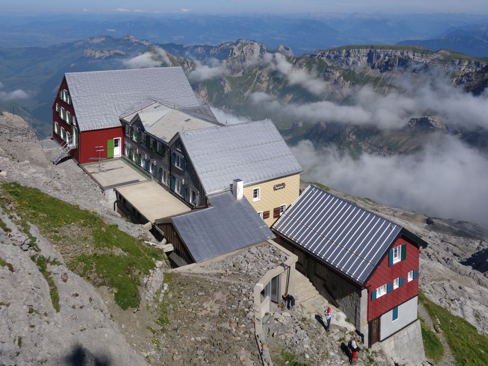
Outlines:
POLYGON ((441 330, 459 366, 488 365, 488 338, 463 318, 455 316, 446 308, 428 300, 419 291, 419 302, 424 305, 432 319, 439 319, 441 330))

